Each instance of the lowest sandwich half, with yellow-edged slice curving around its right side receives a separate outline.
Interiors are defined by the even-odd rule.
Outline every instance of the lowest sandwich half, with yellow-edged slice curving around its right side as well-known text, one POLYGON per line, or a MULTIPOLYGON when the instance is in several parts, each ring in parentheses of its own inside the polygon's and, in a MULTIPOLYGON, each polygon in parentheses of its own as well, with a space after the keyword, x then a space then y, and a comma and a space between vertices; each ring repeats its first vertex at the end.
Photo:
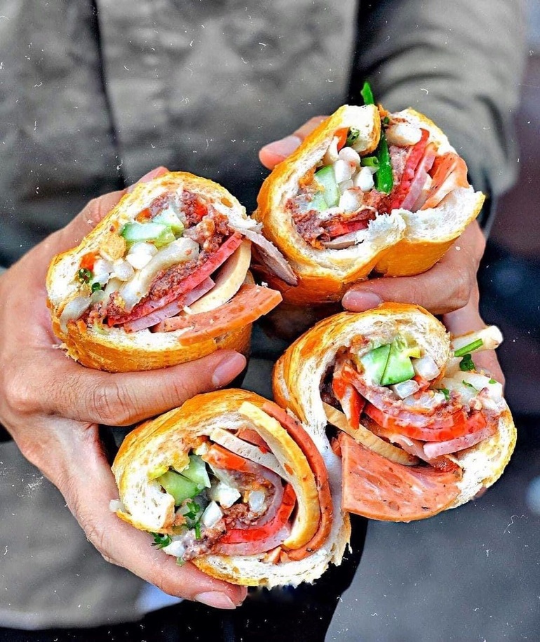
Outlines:
POLYGON ((227 582, 313 582, 349 542, 324 430, 308 434, 253 392, 208 392, 143 423, 112 469, 119 517, 179 564, 227 582))

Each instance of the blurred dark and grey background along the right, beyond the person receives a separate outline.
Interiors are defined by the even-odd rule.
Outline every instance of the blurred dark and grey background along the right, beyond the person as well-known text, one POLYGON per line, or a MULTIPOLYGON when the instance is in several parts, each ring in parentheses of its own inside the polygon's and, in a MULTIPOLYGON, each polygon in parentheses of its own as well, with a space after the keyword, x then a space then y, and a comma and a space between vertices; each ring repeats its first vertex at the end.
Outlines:
POLYGON ((518 445, 485 496, 424 523, 371 522, 327 641, 540 639, 540 4, 529 0, 529 64, 515 114, 520 177, 497 204, 480 269, 482 313, 518 445))

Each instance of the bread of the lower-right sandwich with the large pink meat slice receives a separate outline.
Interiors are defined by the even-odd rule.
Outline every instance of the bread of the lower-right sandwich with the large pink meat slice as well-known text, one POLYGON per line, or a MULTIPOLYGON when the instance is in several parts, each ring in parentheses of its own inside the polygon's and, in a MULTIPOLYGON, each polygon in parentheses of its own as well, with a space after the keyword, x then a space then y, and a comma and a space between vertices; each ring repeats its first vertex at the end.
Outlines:
MULTIPOLYGON (((383 303, 363 313, 340 313, 309 329, 285 351, 276 363, 274 398, 291 409, 313 430, 324 430, 327 420, 320 398, 320 384, 336 354, 358 336, 384 343, 397 332, 405 332, 443 367, 451 355, 450 335, 433 315, 420 306, 383 303)), ((505 407, 497 433, 456 457, 463 467, 459 496, 450 508, 473 499, 499 479, 515 446, 516 430, 505 407)), ((426 517, 430 517, 429 515, 426 517)))

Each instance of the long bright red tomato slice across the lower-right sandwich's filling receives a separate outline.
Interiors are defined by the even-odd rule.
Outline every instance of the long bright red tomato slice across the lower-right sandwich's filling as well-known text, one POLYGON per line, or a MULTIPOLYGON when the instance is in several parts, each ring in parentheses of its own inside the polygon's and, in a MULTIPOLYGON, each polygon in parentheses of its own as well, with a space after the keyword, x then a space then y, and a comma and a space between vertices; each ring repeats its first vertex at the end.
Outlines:
POLYGON ((468 417, 463 409, 444 417, 433 416, 431 423, 426 426, 403 423, 398 417, 386 414, 370 403, 365 407, 365 414, 383 428, 390 428, 399 432, 400 435, 411 437, 411 439, 421 439, 424 442, 447 442, 450 439, 481 430, 485 425, 475 416, 475 413, 468 417))

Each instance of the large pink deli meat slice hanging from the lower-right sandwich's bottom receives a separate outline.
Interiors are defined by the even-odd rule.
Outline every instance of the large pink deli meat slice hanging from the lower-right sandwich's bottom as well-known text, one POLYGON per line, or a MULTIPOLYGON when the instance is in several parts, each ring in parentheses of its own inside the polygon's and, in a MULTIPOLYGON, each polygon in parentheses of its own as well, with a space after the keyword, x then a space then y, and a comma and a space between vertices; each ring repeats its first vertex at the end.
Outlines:
POLYGON ((341 433, 344 511, 385 521, 436 515, 459 496, 461 469, 405 466, 370 451, 341 433))

